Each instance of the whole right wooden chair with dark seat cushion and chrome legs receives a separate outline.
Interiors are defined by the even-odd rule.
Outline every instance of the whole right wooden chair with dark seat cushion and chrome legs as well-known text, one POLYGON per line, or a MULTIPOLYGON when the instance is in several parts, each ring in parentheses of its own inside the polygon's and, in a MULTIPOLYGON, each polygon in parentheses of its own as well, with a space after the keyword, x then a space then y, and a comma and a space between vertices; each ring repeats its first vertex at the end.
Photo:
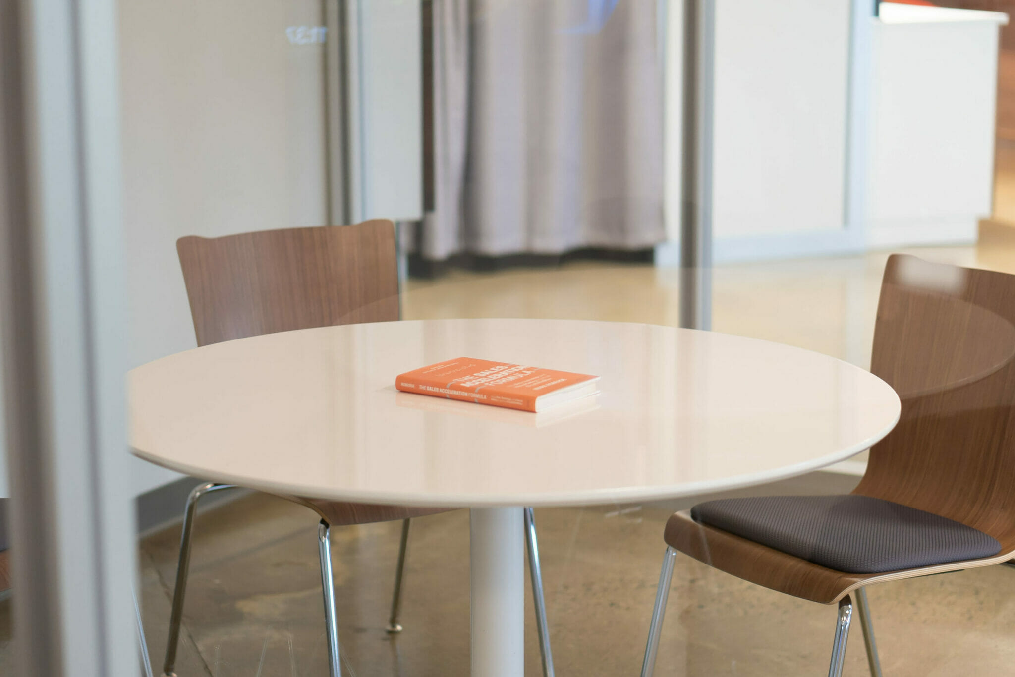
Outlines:
POLYGON ((871 674, 880 677, 866 586, 1012 559, 1013 324, 1015 275, 892 256, 871 371, 898 393, 898 425, 871 449, 850 495, 726 499, 673 515, 642 676, 653 673, 678 551, 765 588, 837 603, 830 676, 841 674, 852 593, 871 674))

